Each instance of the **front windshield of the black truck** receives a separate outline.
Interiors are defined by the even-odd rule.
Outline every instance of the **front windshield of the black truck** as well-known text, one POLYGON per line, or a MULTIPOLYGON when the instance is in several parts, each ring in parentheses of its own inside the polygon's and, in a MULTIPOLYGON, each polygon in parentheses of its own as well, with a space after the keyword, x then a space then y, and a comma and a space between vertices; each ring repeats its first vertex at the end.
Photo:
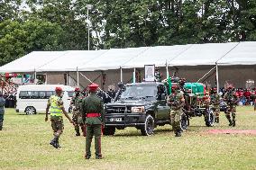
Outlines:
POLYGON ((149 98, 157 95, 157 88, 150 85, 130 85, 126 86, 121 95, 121 99, 149 98))

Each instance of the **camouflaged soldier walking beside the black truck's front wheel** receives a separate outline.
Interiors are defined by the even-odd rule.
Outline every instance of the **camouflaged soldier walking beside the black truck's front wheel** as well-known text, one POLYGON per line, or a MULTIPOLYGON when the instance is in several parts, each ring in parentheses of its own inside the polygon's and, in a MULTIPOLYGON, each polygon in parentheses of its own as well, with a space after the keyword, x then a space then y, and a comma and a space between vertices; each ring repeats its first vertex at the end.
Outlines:
POLYGON ((176 137, 181 137, 181 115, 182 109, 185 105, 184 94, 180 91, 178 85, 172 86, 172 94, 168 97, 168 104, 170 106, 170 123, 172 125, 172 130, 175 133, 176 137))

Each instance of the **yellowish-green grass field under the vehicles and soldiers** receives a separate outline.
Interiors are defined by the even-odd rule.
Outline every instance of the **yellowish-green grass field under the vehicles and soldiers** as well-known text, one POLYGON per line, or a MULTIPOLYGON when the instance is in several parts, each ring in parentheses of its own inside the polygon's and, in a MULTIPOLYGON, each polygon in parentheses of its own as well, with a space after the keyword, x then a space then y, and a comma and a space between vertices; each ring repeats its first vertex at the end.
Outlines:
MULTIPOLYGON (((206 130, 256 130, 252 107, 237 108, 237 126, 230 128, 221 113, 220 124, 205 127, 202 117, 193 118, 182 138, 175 138, 169 125, 158 127, 151 137, 139 130, 117 130, 103 137, 104 159, 84 159, 85 138, 75 137, 65 119, 62 148, 49 145, 50 122, 44 115, 22 115, 6 109, 0 131, 0 169, 256 169, 256 136, 207 134, 206 130)), ((94 148, 92 150, 94 152, 94 148)))

